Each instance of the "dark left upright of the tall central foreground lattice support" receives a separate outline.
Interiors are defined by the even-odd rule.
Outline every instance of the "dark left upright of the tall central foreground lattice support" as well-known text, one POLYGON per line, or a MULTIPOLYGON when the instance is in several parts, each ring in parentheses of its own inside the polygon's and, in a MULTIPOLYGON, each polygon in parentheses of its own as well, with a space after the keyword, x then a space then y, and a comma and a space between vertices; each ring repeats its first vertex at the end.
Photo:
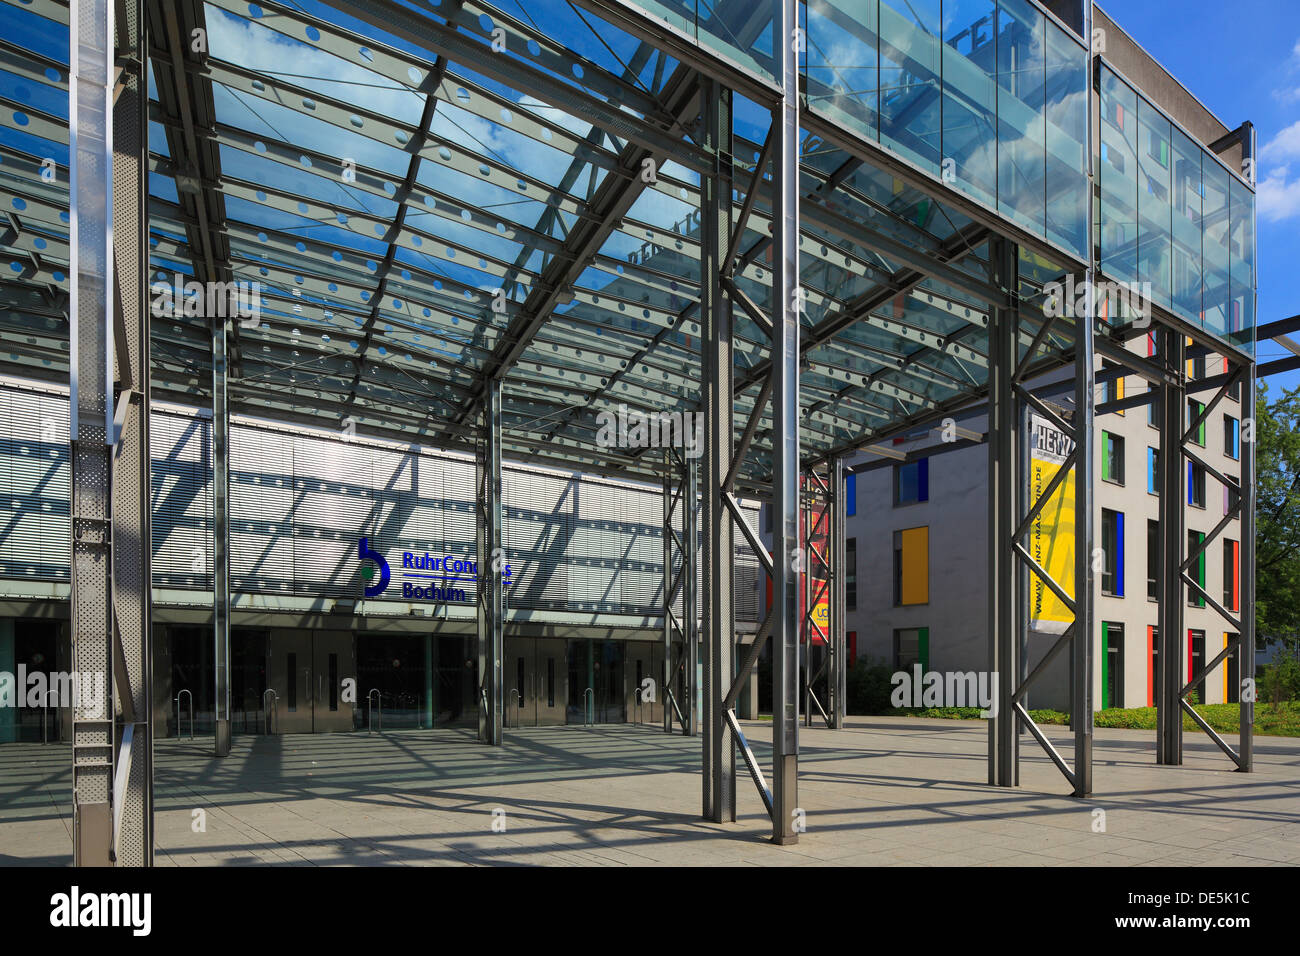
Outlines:
POLYGON ((736 670, 732 516, 723 499, 732 462, 732 312, 718 276, 728 260, 732 233, 732 94, 707 81, 702 87, 705 148, 714 172, 701 177, 701 299, 705 364, 705 695, 702 714, 703 816, 736 819, 736 740, 723 697, 736 670))

